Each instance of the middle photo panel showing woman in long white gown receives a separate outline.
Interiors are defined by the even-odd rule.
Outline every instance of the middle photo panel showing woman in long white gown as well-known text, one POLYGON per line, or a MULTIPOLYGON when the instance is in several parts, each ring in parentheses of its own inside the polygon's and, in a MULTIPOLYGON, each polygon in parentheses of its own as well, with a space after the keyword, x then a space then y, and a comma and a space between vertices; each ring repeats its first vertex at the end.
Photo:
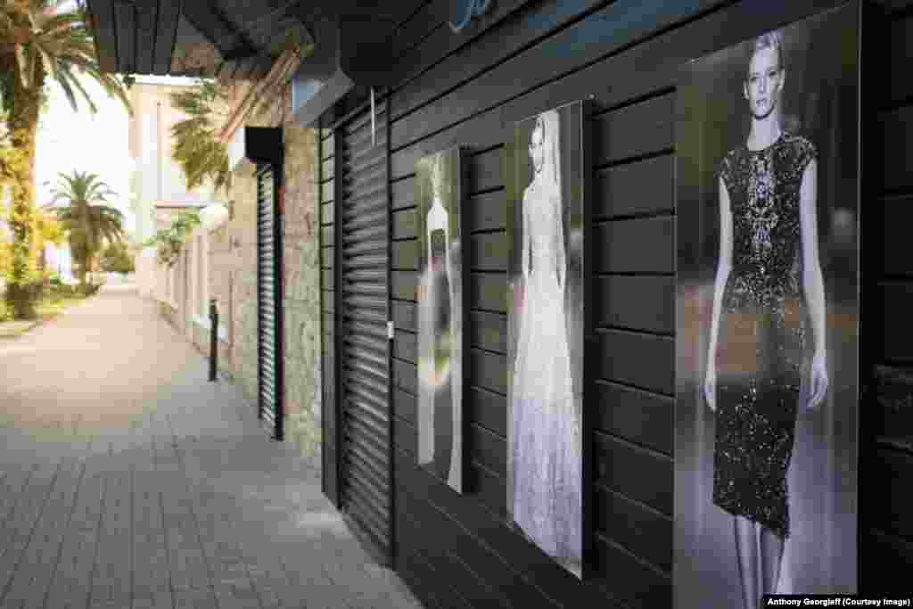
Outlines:
POLYGON ((519 121, 508 184, 511 525, 582 578, 586 104, 519 121))

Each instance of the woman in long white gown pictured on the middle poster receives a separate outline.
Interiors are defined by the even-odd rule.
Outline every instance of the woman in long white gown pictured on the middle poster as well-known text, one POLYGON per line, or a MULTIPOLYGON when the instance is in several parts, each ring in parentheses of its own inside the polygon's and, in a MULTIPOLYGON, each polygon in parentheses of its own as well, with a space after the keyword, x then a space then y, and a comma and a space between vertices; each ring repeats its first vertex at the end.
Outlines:
POLYGON ((519 528, 580 574, 582 458, 564 304, 564 227, 557 110, 530 142, 532 182, 522 198, 522 289, 510 388, 513 497, 519 528))

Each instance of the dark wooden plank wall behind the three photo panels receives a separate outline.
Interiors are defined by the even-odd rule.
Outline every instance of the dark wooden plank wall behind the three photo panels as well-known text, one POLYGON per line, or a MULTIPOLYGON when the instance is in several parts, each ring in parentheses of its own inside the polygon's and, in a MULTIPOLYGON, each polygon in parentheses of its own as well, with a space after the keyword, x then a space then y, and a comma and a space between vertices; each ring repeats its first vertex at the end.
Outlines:
MULTIPOLYGON (((670 607, 677 70, 690 58, 843 2, 502 0, 458 35, 446 26, 448 4, 427 2, 397 30, 388 102, 397 572, 434 607, 670 607), (595 311, 599 357, 595 377, 587 379, 596 397, 585 408, 595 427, 590 484, 597 574, 580 583, 506 524, 508 242, 500 154, 514 121, 590 97, 594 276, 586 306, 595 311), (471 148, 462 496, 415 466, 415 161, 457 144, 471 148)), ((884 163, 866 165, 873 182, 881 181, 872 186, 877 196, 863 203, 867 230, 875 235, 867 243, 881 247, 883 229, 885 262, 866 271, 866 293, 875 296, 866 296, 864 328, 877 333, 869 344, 878 354, 863 360, 865 378, 873 358, 913 363, 913 318, 906 314, 913 310, 913 257, 903 248, 913 203, 913 150, 907 154, 913 147, 913 0, 888 4, 890 36, 880 38, 889 47, 890 78, 873 80, 881 110, 864 120, 866 134, 885 154, 884 163), (870 208, 876 208, 871 215, 870 208)), ((327 193, 329 161, 330 169, 325 161, 321 170, 327 193)), ((327 245, 331 204, 323 210, 327 245)), ((328 313, 331 260, 323 262, 328 313)), ((892 589, 905 587, 900 570, 913 562, 913 495, 905 491, 913 484, 913 452, 867 441, 878 425, 887 425, 873 404, 874 396, 863 404, 869 411, 862 547, 866 561, 887 559, 894 566, 864 571, 862 583, 880 592, 888 589, 882 575, 890 569, 897 573, 892 589)), ((333 450, 325 450, 328 459, 333 450)))

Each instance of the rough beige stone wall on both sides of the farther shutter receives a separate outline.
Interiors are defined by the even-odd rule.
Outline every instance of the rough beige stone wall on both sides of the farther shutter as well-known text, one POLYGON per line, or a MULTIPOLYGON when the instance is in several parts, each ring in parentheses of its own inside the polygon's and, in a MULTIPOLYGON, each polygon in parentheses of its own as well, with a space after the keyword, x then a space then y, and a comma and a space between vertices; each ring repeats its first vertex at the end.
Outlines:
MULTIPOLYGON (((320 474, 320 245, 316 131, 289 117, 278 99, 251 126, 284 130, 283 239, 286 441, 299 447, 307 467, 320 474)), ((257 181, 236 174, 227 199, 233 215, 210 233, 209 289, 220 303, 229 343, 219 367, 256 404, 257 399, 257 181)), ((208 342, 207 342, 208 344, 208 342)), ((208 349, 208 347, 207 347, 208 349)))

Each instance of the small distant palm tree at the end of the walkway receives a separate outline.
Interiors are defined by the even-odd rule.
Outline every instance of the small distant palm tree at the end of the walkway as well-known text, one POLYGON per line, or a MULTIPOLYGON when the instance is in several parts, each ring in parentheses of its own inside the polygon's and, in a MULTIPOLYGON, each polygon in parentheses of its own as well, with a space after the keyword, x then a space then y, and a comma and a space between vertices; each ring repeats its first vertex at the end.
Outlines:
POLYGON ((65 199, 66 207, 58 207, 60 223, 68 231, 69 251, 77 263, 79 283, 86 284, 86 273, 104 241, 120 243, 123 238, 123 214, 110 205, 108 197, 116 195, 95 173, 72 175, 60 173, 60 188, 54 190, 54 201, 65 199))

